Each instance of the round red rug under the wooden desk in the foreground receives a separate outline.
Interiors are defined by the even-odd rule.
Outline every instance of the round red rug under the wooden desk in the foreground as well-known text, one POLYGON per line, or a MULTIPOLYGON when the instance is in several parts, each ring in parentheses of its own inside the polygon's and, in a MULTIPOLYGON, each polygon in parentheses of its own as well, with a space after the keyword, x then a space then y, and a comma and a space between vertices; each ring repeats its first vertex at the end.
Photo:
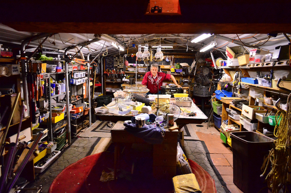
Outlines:
MULTIPOLYGON (((152 158, 150 154, 142 154, 142 159, 136 155, 121 157, 119 178, 101 182, 103 170, 110 172, 114 168, 114 153, 102 152, 89 155, 69 165, 54 179, 49 193, 127 193, 127 192, 174 192, 172 180, 152 178, 152 158), (151 160, 150 160, 151 159, 151 160), (135 162, 131 174, 132 163, 135 162)), ((216 193, 215 183, 211 176, 197 163, 188 160, 203 193, 216 193)))

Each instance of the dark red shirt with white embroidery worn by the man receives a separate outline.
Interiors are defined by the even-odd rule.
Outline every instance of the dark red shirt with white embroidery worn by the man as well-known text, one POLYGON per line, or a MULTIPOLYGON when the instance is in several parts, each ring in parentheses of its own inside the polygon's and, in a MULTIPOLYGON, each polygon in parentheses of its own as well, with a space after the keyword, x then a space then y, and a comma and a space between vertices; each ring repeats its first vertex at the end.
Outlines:
POLYGON ((158 82, 159 82, 159 91, 161 90, 161 86, 164 80, 170 80, 171 75, 166 74, 164 72, 157 72, 157 77, 154 78, 152 76, 152 72, 145 73, 143 77, 143 82, 141 84, 146 85, 148 89, 150 89, 150 93, 157 94, 158 93, 158 82))

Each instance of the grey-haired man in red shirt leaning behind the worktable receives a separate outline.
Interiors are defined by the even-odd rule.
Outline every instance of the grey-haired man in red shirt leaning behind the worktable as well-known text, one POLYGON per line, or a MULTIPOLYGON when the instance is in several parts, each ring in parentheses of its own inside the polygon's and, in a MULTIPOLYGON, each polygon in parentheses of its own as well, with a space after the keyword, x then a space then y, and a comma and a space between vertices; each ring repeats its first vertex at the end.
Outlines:
POLYGON ((177 85, 178 87, 182 87, 177 83, 173 75, 166 74, 164 72, 158 72, 158 65, 152 64, 150 66, 150 72, 145 73, 141 84, 146 85, 148 89, 150 89, 147 94, 157 94, 158 91, 159 94, 161 94, 161 86, 163 84, 163 81, 170 79, 175 83, 175 85, 177 85))

